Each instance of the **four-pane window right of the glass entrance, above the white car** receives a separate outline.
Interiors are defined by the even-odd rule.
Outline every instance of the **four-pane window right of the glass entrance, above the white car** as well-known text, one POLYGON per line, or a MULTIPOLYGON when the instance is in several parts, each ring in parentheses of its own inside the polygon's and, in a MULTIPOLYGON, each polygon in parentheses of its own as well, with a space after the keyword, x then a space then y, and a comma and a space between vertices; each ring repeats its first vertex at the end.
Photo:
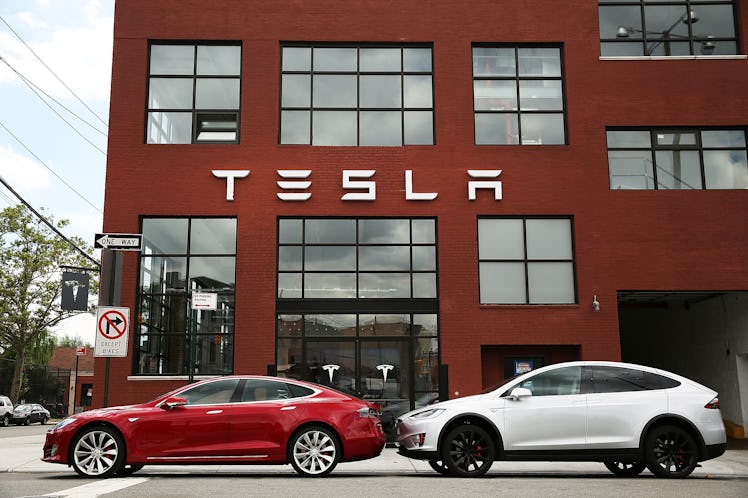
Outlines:
POLYGON ((482 304, 576 302, 569 218, 478 218, 482 304))

